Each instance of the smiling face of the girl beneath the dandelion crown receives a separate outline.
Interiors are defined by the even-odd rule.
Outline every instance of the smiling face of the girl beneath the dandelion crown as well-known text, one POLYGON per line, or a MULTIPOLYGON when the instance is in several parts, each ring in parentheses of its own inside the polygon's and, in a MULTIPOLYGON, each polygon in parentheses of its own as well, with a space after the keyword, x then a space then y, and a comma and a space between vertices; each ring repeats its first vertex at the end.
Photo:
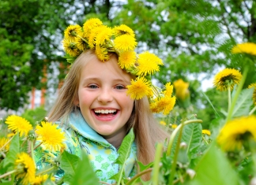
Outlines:
POLYGON ((125 124, 134 106, 134 100, 126 95, 130 80, 115 57, 103 62, 94 56, 81 70, 75 104, 79 103, 88 125, 104 138, 126 134, 125 124))

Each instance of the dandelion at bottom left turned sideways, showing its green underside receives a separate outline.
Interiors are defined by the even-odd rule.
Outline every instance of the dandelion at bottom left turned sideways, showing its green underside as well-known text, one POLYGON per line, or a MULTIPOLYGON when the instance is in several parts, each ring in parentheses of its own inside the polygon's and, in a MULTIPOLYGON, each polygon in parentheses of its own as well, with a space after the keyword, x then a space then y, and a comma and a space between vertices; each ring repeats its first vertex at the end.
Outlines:
POLYGON ((22 179, 22 184, 27 185, 34 182, 36 166, 28 154, 21 153, 17 155, 17 160, 15 161, 15 170, 17 171, 17 178, 22 179))

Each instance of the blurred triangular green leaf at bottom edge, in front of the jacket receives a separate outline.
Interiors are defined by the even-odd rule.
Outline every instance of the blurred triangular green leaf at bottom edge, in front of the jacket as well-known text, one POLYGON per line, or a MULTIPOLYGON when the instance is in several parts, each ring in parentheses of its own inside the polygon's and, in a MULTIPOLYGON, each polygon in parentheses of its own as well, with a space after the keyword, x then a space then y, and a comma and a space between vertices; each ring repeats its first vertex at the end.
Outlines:
POLYGON ((88 156, 85 152, 82 153, 82 161, 77 166, 71 182, 72 183, 70 183, 70 185, 99 185, 99 179, 96 177, 95 172, 93 172, 88 156))

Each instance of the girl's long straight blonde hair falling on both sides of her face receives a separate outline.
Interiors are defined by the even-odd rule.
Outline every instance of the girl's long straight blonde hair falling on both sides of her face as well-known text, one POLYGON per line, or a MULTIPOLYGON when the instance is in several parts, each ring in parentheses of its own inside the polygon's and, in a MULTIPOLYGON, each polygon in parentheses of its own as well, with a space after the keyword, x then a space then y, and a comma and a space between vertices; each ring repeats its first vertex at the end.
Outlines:
MULTIPOLYGON (((66 118, 71 112, 77 111, 77 106, 73 102, 78 96, 77 91, 81 69, 86 61, 90 61, 94 56, 94 50, 86 50, 74 61, 59 91, 55 105, 48 114, 49 121, 54 122, 60 118, 66 118)), ((127 131, 130 128, 134 128, 137 160, 141 161, 144 165, 149 164, 149 162, 154 160, 156 142, 164 142, 164 139, 168 137, 168 133, 160 128, 159 123, 153 117, 149 109, 148 98, 145 97, 135 101, 134 109, 126 125, 127 131)), ((149 175, 145 175, 143 179, 149 179, 149 175)))

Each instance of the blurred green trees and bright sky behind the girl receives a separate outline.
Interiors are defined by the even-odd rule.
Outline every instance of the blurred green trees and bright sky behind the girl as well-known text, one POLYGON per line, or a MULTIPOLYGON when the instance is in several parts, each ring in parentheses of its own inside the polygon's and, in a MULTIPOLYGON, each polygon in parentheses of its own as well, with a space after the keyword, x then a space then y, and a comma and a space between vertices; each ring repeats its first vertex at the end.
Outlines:
POLYGON ((243 72, 249 65, 244 87, 256 82, 255 63, 231 54, 237 43, 256 43, 254 0, 1 0, 0 118, 14 113, 35 122, 47 115, 68 67, 63 31, 92 17, 126 24, 136 33, 137 52, 164 61, 154 82, 170 81, 177 97, 165 120, 193 113, 208 128, 216 117, 209 100, 218 113, 228 108, 227 93, 213 87, 223 68, 243 72))

